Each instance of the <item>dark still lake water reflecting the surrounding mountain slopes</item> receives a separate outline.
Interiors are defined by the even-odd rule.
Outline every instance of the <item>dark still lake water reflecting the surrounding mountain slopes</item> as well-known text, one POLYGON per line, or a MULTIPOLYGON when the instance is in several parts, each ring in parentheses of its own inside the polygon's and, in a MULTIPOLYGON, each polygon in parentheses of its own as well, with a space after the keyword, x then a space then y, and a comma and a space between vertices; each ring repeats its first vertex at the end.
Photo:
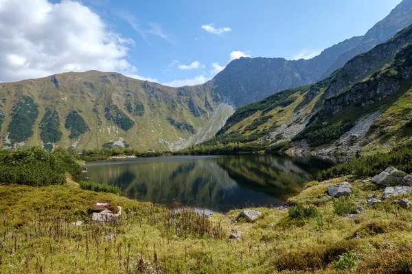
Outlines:
POLYGON ((227 212, 281 206, 332 165, 319 158, 268 154, 133 158, 89 162, 79 180, 119 186, 138 201, 227 212))

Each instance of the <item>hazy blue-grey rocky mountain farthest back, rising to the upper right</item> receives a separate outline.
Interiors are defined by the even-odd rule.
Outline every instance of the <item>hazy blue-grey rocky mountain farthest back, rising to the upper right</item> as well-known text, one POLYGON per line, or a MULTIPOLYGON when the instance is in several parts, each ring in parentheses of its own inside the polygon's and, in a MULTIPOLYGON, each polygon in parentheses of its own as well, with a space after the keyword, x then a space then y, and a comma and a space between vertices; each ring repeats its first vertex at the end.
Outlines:
POLYGON ((359 53, 369 51, 412 24, 412 0, 404 0, 365 36, 353 37, 322 51, 310 60, 240 58, 233 60, 208 83, 236 108, 286 88, 312 84, 329 77, 359 53))

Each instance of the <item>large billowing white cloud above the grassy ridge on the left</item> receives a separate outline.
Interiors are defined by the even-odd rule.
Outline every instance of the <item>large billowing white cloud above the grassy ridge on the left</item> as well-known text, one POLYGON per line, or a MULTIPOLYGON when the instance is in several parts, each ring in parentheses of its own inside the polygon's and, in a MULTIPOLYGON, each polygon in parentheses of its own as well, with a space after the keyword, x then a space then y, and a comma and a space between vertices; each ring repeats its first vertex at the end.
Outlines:
POLYGON ((91 69, 137 75, 125 59, 133 43, 75 1, 0 0, 0 82, 91 69))

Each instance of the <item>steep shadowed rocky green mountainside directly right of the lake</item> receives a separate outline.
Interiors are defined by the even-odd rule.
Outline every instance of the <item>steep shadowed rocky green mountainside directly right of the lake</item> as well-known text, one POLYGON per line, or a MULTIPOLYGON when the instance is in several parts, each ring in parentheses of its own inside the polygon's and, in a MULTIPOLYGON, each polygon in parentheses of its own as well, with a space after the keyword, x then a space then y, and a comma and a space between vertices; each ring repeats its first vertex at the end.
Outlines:
POLYGON ((412 136, 412 25, 330 77, 244 105, 203 145, 320 154, 396 147, 412 136))

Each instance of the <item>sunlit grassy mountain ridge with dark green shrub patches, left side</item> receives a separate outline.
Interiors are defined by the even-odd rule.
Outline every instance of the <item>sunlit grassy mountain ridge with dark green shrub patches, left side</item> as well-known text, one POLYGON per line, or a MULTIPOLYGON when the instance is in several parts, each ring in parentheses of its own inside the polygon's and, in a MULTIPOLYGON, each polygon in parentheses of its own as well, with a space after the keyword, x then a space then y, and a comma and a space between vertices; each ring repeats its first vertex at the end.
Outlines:
POLYGON ((207 84, 170 88, 98 71, 0 84, 8 148, 176 150, 213 136, 231 113, 207 84))

